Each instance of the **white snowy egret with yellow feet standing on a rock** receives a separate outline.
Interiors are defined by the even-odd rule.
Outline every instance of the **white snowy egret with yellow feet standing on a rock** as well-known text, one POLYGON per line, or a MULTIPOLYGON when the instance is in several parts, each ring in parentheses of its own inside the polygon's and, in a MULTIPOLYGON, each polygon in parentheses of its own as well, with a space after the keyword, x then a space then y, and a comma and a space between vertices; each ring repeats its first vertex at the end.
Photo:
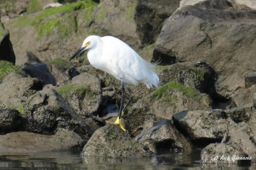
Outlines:
POLYGON ((132 100, 132 90, 127 83, 134 85, 144 83, 147 88, 151 88, 152 85, 158 86, 159 78, 150 63, 143 60, 133 48, 118 38, 112 36, 88 36, 69 61, 86 50, 89 50, 87 57, 93 67, 108 72, 108 74, 121 81, 121 104, 118 117, 115 123, 112 124, 119 125, 123 131, 126 131, 121 125, 120 119, 132 100), (125 96, 124 86, 129 91, 130 98, 123 107, 125 96))

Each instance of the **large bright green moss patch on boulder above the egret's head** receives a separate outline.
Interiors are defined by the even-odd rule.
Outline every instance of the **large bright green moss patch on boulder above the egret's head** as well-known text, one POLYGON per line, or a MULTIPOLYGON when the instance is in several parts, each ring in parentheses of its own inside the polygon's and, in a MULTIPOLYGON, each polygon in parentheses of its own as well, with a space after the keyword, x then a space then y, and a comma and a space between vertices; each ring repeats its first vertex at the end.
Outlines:
POLYGON ((70 35, 72 31, 77 30, 75 17, 71 16, 70 13, 84 10, 87 11, 86 17, 89 17, 91 16, 92 9, 97 5, 98 4, 93 1, 84 0, 56 8, 49 8, 36 15, 34 18, 30 18, 28 15, 19 17, 16 20, 16 26, 33 26, 37 32, 37 40, 46 34, 53 34, 55 28, 60 38, 64 38, 70 35))

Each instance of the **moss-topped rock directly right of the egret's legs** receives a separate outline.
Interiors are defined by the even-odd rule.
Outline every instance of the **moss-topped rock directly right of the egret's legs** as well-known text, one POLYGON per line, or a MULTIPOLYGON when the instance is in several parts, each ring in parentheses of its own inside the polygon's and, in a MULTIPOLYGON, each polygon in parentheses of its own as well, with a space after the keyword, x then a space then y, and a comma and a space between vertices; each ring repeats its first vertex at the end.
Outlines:
POLYGON ((172 116, 183 110, 210 110, 211 100, 205 93, 199 93, 194 87, 185 87, 177 82, 168 82, 152 94, 128 108, 127 120, 129 132, 138 135, 136 131, 143 126, 148 118, 156 117, 172 119, 172 116), (136 120, 136 121, 135 121, 136 120))

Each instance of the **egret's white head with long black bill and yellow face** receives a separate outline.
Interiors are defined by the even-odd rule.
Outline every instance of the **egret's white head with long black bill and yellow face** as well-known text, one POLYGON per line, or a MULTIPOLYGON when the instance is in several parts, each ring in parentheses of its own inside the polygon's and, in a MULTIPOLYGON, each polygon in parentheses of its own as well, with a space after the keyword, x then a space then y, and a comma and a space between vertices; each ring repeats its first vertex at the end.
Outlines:
POLYGON ((82 53, 86 50, 89 50, 97 45, 97 41, 100 41, 100 37, 96 35, 90 35, 88 36, 82 43, 82 46, 77 50, 77 52, 69 59, 72 60, 77 56, 79 53, 82 53))

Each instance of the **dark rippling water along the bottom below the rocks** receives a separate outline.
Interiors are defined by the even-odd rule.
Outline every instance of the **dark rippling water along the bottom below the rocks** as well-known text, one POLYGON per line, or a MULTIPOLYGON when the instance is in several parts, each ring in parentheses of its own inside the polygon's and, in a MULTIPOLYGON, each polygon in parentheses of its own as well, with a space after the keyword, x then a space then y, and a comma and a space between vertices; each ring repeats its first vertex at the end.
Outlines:
POLYGON ((201 164, 200 152, 193 154, 162 154, 164 163, 156 164, 151 158, 99 158, 82 159, 71 152, 10 154, 0 152, 0 169, 256 169, 256 165, 201 164))

